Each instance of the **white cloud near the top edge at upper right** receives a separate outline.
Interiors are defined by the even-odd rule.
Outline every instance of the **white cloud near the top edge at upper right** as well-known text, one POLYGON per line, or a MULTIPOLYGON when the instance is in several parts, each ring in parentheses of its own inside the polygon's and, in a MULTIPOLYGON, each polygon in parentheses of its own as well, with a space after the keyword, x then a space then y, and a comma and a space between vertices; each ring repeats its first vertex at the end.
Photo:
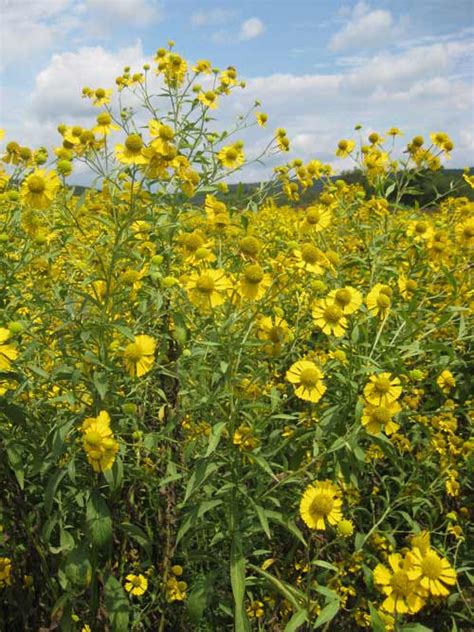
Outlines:
POLYGON ((376 48, 392 42, 400 34, 401 24, 394 21, 390 11, 371 11, 365 2, 359 2, 349 16, 349 21, 331 37, 329 49, 376 48))

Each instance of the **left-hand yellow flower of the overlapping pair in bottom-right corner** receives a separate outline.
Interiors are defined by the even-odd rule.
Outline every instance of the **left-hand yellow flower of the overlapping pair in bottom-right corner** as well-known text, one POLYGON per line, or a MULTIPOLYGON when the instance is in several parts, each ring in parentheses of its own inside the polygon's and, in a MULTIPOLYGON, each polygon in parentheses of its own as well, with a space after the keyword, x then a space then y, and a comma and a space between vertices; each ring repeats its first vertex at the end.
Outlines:
POLYGON ((399 553, 392 553, 388 556, 388 563, 390 568, 378 564, 374 569, 374 582, 386 595, 382 608, 397 614, 415 614, 425 602, 418 582, 409 578, 410 561, 399 553))

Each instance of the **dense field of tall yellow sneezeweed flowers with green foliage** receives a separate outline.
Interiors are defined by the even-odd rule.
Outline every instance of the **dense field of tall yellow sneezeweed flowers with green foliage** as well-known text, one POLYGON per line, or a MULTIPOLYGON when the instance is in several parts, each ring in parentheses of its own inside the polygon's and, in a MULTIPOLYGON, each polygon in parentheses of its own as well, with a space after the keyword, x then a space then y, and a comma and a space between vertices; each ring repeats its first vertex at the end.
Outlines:
POLYGON ((219 129, 244 87, 170 43, 49 154, 6 131, 2 631, 473 629, 474 203, 403 203, 453 143, 335 139, 368 194, 219 129))

